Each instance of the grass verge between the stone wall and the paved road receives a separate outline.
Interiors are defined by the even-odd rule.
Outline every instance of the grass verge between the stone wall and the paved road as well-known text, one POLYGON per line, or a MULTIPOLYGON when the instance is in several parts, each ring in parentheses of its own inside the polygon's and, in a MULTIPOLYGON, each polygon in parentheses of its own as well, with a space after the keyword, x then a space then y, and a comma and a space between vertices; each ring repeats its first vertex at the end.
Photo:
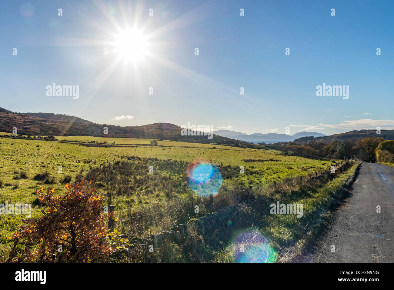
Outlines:
POLYGON ((262 198, 268 204, 303 204, 303 217, 292 214, 269 214, 270 208, 247 206, 242 209, 243 219, 250 227, 237 229, 229 244, 215 253, 216 262, 294 262, 321 231, 331 216, 330 208, 338 202, 344 188, 353 182, 361 162, 351 165, 332 180, 309 182, 262 198), (243 252, 241 251, 243 250, 243 252))

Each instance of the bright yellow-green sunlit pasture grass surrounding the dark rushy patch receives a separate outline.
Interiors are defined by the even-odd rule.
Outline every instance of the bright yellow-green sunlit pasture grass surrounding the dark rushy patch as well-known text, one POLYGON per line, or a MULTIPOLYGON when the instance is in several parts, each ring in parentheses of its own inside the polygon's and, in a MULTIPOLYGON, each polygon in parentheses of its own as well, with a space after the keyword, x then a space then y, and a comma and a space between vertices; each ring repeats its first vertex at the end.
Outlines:
MULTIPOLYGON (((232 175, 223 180, 223 186, 237 184, 241 186, 264 185, 280 182, 284 178, 299 175, 308 176, 315 171, 327 170, 331 162, 312 160, 296 156, 282 156, 278 151, 246 149, 228 147, 223 145, 186 143, 178 141, 158 141, 157 147, 149 146, 152 139, 130 138, 97 138, 87 136, 57 137, 59 140, 69 141, 95 141, 100 143, 107 141, 115 145, 125 144, 125 147, 87 147, 79 143, 65 143, 56 141, 42 141, 29 139, 0 138, 0 203, 32 203, 32 217, 41 214, 41 208, 37 203, 35 189, 44 187, 54 188, 57 192, 65 191, 62 180, 70 176, 74 181, 77 175, 85 175, 89 170, 99 167, 104 162, 116 162, 125 160, 125 156, 139 156, 141 158, 157 158, 169 160, 169 162, 181 161, 188 164, 198 158, 210 160, 212 164, 230 166, 232 175), (136 145, 141 144, 141 145, 136 145), (264 162, 245 162, 243 160, 279 160, 264 162), (250 175, 241 174, 240 166, 250 175), (61 173, 59 169, 61 167, 61 173), (27 178, 18 178, 20 172, 26 172, 27 178), (44 184, 43 181, 33 180, 35 175, 48 171, 50 178, 55 183, 44 184)), ((152 166, 158 162, 152 161, 152 166)), ((186 165, 185 165, 186 167, 186 165)), ((156 168, 156 167, 155 167, 156 168)), ((186 170, 186 168, 185 168, 186 170)), ((162 176, 182 178, 183 173, 175 173, 171 169, 163 167, 158 170, 162 176)), ((105 189, 105 188, 104 188, 105 189)), ((98 189, 100 191, 100 189, 98 189)), ((155 190, 155 188, 151 188, 155 190)), ((102 191, 103 195, 106 191, 102 191)), ((171 193, 172 194, 172 193, 171 193)), ((176 192, 177 197, 182 197, 182 192, 176 192)), ((142 195, 140 204, 167 199, 164 192, 157 192, 152 196, 142 195), (157 196, 156 196, 157 195, 157 196)), ((138 201, 135 196, 116 195, 113 197, 116 209, 133 206, 138 201)), ((10 236, 20 225, 20 216, 0 217, 0 244, 4 243, 5 237, 10 236)), ((3 246, 0 246, 0 251, 3 246)))

